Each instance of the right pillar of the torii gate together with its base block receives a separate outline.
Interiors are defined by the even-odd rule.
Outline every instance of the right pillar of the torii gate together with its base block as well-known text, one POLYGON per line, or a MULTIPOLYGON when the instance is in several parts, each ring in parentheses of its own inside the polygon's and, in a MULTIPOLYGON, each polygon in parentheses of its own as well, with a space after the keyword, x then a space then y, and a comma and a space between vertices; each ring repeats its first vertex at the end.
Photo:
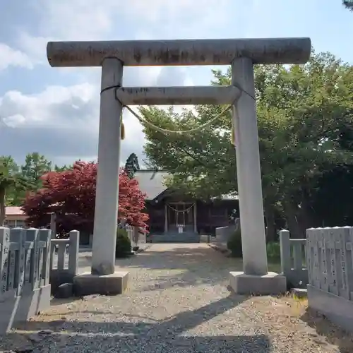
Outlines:
POLYGON ((232 83, 242 90, 232 112, 236 156, 241 247, 244 272, 229 273, 237 294, 280 294, 287 290, 284 275, 268 272, 253 61, 232 62, 232 83))

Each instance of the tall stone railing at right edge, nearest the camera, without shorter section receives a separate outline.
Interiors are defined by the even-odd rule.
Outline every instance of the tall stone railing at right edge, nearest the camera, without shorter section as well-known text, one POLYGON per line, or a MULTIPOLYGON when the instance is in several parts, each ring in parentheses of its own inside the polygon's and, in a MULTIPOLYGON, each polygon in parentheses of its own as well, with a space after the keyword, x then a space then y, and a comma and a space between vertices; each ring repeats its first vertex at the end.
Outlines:
POLYGON ((353 227, 306 229, 308 303, 353 331, 353 227))

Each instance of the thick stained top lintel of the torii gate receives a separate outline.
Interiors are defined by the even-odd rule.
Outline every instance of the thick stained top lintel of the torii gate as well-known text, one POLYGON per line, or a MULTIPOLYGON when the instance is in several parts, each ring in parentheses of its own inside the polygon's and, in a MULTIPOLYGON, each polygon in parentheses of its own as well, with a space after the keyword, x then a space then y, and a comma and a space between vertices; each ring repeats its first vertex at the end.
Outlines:
POLYGON ((102 66, 115 57, 124 66, 229 65, 241 56, 253 64, 304 64, 310 38, 221 40, 112 40, 48 42, 51 66, 102 66))

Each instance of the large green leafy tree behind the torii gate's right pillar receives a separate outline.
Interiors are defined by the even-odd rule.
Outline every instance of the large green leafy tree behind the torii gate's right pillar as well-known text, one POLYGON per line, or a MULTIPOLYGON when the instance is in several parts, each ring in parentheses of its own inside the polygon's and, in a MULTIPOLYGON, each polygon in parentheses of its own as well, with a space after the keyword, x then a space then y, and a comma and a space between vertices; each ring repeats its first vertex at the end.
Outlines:
MULTIPOLYGON (((230 71, 213 71, 213 83, 230 84, 230 71)), ((275 237, 278 213, 294 237, 316 225, 310 200, 330 170, 352 164, 342 131, 353 126, 353 70, 329 53, 311 56, 305 65, 256 66, 259 148, 268 239, 275 237)), ((140 108, 145 119, 169 130, 205 124, 222 107, 184 110, 140 108)), ((237 192, 235 150, 228 111, 192 135, 163 133, 145 126, 145 155, 171 170, 167 184, 200 198, 237 192)))

